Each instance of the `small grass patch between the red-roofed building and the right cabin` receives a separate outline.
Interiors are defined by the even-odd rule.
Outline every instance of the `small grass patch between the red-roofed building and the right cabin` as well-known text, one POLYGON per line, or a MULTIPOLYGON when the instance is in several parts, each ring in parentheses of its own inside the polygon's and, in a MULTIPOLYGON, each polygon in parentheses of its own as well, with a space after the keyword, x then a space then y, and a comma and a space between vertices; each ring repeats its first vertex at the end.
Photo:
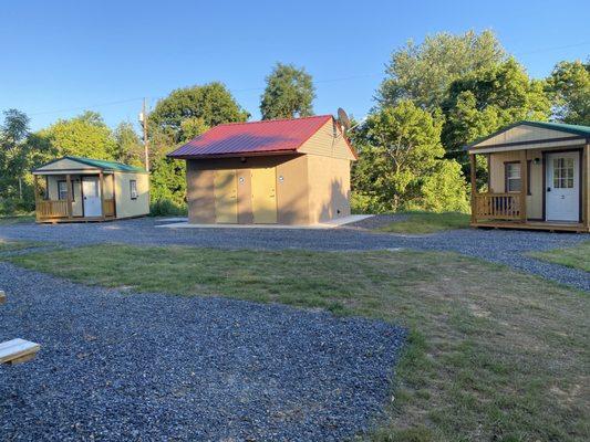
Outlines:
POLYGON ((392 222, 377 230, 390 233, 423 234, 469 227, 469 215, 466 213, 407 212, 405 215, 407 215, 407 219, 392 222))

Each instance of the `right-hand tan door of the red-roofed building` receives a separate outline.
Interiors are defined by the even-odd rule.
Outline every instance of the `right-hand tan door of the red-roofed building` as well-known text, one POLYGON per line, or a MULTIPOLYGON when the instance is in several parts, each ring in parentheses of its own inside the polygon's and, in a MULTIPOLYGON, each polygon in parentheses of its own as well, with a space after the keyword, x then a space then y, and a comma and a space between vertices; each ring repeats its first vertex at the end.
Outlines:
POLYGON ((251 170, 252 213, 255 224, 277 223, 277 169, 251 170))

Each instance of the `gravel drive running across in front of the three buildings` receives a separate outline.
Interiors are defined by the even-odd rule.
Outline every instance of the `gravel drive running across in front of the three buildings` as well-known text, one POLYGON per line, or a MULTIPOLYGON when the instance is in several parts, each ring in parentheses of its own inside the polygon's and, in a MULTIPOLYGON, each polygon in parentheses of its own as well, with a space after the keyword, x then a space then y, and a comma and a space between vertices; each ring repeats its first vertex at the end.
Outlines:
MULTIPOLYGON (((579 233, 549 233, 518 230, 453 230, 428 235, 373 233, 363 227, 379 225, 382 215, 349 228, 332 230, 277 229, 156 229, 152 218, 89 224, 0 225, 0 239, 51 241, 81 245, 100 242, 133 244, 185 244, 229 249, 309 249, 309 250, 444 250, 503 263, 514 269, 590 291, 588 272, 549 264, 526 256, 535 250, 576 245, 588 241, 579 233)), ((393 215, 395 217, 395 215, 393 215)))

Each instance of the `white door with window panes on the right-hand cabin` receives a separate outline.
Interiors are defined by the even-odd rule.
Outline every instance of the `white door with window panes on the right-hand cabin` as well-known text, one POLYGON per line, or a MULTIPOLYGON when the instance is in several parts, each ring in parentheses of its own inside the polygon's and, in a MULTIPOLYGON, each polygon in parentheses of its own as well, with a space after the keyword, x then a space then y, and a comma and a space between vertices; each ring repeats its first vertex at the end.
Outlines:
POLYGON ((580 220, 580 154, 547 155, 546 220, 580 220))

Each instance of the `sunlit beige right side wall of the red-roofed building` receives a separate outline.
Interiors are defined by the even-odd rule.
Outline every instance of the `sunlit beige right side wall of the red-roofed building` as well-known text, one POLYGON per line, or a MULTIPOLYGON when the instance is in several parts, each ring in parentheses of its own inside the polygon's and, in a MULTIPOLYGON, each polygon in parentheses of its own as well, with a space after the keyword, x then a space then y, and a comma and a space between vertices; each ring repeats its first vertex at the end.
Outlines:
POLYGON ((309 219, 318 223, 350 214, 350 160, 307 155, 309 219))

